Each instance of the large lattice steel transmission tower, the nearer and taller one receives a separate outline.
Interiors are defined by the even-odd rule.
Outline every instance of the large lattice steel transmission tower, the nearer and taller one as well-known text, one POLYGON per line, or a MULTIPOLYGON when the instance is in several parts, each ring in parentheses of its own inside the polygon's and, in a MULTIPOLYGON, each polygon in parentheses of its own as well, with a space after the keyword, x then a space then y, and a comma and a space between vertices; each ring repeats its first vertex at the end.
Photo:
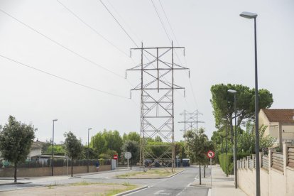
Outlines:
POLYGON ((175 168, 174 84, 175 70, 188 70, 174 62, 174 50, 184 47, 131 48, 141 50, 141 64, 126 71, 141 71, 141 83, 131 90, 141 91, 140 166, 160 164, 175 168), (151 58, 149 60, 148 58, 151 58), (145 62, 146 60, 146 62, 145 62), (149 145, 160 136, 163 145, 149 145), (158 153, 152 149, 160 148, 158 153), (147 164, 146 164, 147 163, 147 164))

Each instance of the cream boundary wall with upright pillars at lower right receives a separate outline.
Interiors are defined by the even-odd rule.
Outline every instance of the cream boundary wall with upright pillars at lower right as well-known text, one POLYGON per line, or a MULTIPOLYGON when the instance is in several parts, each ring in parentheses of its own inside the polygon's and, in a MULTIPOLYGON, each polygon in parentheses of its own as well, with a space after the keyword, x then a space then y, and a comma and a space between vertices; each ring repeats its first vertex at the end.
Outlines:
MULTIPOLYGON (((288 146, 293 145, 283 143, 283 171, 271 167, 271 150, 269 151, 268 168, 260 169, 261 195, 294 195, 294 168, 290 168, 287 165, 288 146)), ((252 170, 248 167, 238 168, 238 186, 247 195, 256 195, 256 168, 252 170)))

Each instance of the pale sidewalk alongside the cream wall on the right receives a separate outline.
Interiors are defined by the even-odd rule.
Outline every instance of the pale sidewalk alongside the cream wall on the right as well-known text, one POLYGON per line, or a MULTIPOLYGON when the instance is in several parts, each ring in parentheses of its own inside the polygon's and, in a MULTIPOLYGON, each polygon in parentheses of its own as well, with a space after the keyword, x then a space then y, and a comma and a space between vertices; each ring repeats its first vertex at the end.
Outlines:
MULTIPOLYGON (((210 170, 210 166, 207 170, 210 170)), ((202 175, 203 176, 203 175, 202 175)), ((199 185, 199 179, 195 179, 192 186, 197 187, 209 187, 210 188, 210 175, 206 176, 206 178, 201 178, 201 184, 199 185)), ((235 189, 234 185, 234 175, 226 176, 226 174, 222 171, 219 165, 212 165, 212 189, 209 190, 208 196, 246 196, 246 194, 241 189, 235 189)))

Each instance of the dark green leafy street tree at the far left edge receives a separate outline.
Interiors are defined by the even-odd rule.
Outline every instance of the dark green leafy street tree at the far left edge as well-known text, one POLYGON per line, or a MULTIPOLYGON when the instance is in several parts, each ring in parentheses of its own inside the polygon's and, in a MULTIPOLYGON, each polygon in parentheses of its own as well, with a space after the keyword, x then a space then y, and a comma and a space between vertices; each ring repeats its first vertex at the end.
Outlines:
POLYGON ((17 183, 17 164, 24 162, 31 151, 36 129, 32 124, 22 124, 9 116, 9 122, 0 132, 2 157, 14 164, 14 183, 17 183))

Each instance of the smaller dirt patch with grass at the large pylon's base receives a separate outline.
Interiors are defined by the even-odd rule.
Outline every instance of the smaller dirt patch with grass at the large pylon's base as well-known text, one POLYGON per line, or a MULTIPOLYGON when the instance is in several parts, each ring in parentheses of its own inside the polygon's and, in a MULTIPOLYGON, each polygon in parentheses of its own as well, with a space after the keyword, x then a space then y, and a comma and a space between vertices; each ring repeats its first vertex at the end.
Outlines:
POLYGON ((117 175, 117 178, 167 178, 170 175, 175 175, 176 173, 180 173, 183 171, 183 169, 175 169, 174 172, 172 173, 171 170, 167 169, 151 169, 147 171, 141 171, 141 172, 136 172, 136 173, 126 173, 124 175, 117 175))

